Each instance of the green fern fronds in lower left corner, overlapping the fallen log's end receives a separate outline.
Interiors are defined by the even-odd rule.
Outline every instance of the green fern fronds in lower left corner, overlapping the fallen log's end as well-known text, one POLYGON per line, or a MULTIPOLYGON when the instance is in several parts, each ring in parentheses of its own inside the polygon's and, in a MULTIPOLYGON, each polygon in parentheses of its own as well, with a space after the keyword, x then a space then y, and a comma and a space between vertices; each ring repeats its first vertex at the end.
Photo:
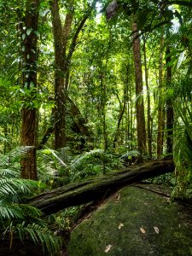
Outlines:
POLYGON ((54 255, 59 252, 60 240, 43 221, 42 212, 22 203, 44 188, 42 183, 20 178, 20 170, 16 166, 23 153, 26 153, 26 148, 16 148, 9 154, 0 155, 1 239, 9 238, 10 248, 17 237, 20 241, 30 240, 37 245, 42 244, 44 252, 54 255))

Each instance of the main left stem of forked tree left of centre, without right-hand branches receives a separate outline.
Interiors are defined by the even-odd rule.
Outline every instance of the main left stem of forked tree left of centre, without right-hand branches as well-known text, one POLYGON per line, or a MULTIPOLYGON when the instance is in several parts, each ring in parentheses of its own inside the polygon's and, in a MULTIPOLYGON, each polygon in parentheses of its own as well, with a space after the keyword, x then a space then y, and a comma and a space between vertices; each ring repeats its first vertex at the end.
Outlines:
MULTIPOLYGON (((65 43, 58 0, 50 2, 55 48, 55 149, 66 145, 65 43)), ((66 18, 67 20, 67 18, 66 18)))

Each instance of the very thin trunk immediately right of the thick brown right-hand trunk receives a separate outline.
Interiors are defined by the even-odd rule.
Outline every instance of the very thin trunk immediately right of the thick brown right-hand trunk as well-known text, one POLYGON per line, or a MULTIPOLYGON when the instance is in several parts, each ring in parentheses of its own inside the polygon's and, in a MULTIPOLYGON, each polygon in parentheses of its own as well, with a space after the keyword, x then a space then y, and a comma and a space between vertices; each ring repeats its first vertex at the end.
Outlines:
POLYGON ((144 67, 145 67, 145 84, 148 91, 148 154, 150 157, 152 157, 151 102, 150 102, 150 91, 148 87, 148 67, 147 67, 145 38, 143 39, 143 54, 144 54, 144 67))

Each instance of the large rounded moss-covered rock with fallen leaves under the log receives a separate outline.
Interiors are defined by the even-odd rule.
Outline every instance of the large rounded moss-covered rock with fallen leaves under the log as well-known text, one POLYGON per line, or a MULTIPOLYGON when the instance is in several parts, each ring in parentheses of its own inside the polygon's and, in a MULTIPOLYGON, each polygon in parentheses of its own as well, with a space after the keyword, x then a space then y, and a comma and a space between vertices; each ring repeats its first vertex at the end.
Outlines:
POLYGON ((106 254, 192 255, 192 217, 147 189, 121 189, 73 230, 68 244, 69 256, 106 254))

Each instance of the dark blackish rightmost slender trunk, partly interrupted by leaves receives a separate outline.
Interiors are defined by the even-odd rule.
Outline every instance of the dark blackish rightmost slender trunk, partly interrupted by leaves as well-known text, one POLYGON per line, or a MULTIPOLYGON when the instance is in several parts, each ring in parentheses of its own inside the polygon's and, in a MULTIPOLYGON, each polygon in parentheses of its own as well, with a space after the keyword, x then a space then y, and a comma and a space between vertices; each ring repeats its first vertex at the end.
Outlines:
MULTIPOLYGON (((171 62, 170 48, 166 49, 166 84, 167 88, 170 87, 172 83, 172 67, 169 65, 171 62)), ((167 130, 167 138, 166 138, 166 153, 172 154, 172 136, 173 136, 173 106, 172 99, 167 98, 166 100, 166 130, 167 130)))

